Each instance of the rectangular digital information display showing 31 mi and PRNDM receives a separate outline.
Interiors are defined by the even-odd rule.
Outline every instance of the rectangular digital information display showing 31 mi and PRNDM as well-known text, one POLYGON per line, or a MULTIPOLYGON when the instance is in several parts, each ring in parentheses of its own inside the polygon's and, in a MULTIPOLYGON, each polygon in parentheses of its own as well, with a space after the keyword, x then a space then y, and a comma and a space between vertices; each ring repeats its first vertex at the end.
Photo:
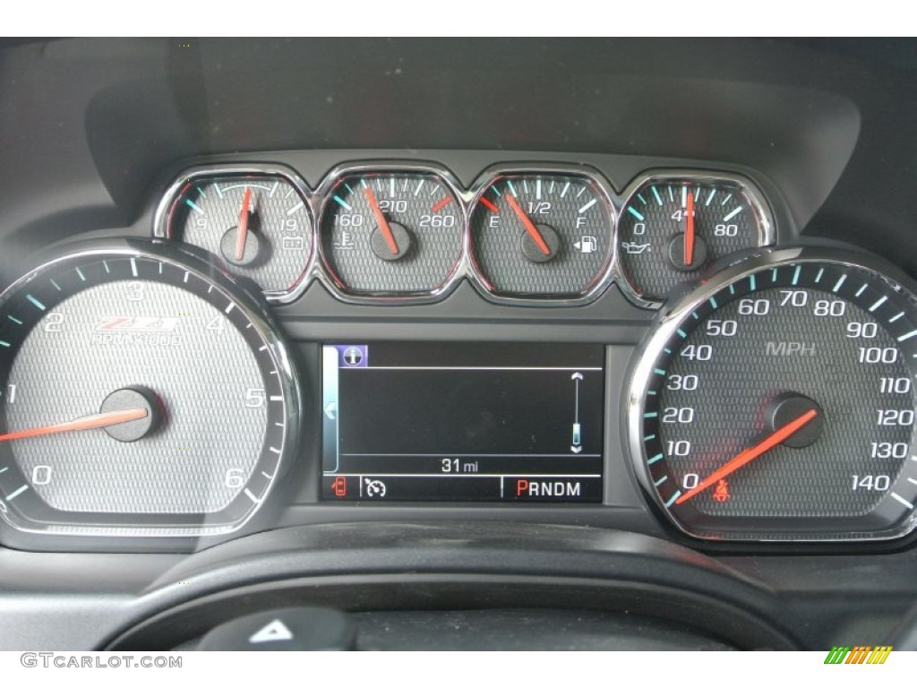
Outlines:
POLYGON ((601 345, 323 347, 328 501, 601 502, 601 345))

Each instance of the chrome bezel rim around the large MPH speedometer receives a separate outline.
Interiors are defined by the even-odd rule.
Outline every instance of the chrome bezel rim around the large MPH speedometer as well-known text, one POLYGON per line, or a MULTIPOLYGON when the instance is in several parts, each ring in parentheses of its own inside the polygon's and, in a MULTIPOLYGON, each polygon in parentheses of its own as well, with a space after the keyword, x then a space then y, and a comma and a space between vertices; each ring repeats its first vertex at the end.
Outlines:
POLYGON ((681 534, 691 538, 711 542, 721 540, 731 544, 758 542, 758 543, 831 543, 831 542, 880 542, 903 538, 917 527, 917 509, 905 519, 900 527, 887 531, 864 533, 840 534, 790 534, 791 537, 774 534, 749 532, 741 537, 722 538, 714 534, 699 534, 683 526, 679 519, 672 516, 668 507, 663 504, 650 475, 647 464, 646 445, 643 438, 643 422, 646 409, 647 392, 653 379, 656 361, 663 353, 664 347, 676 334, 679 327, 691 317, 691 314, 712 296, 738 283, 750 275, 777 267, 787 263, 819 262, 829 263, 852 269, 862 269, 873 272, 877 278, 885 282, 891 290, 903 295, 914 309, 917 309, 917 283, 901 272, 895 266, 871 254, 859 253, 853 250, 842 250, 828 247, 790 247, 779 249, 762 249, 750 253, 728 265, 724 270, 716 273, 710 280, 702 283, 677 302, 667 302, 660 309, 655 327, 647 333, 643 343, 638 347, 639 357, 631 366, 628 383, 624 391, 624 405, 626 414, 622 418, 622 425, 626 434, 627 448, 631 464, 635 471, 637 482, 646 493, 646 498, 656 507, 657 511, 668 524, 675 527, 681 534))

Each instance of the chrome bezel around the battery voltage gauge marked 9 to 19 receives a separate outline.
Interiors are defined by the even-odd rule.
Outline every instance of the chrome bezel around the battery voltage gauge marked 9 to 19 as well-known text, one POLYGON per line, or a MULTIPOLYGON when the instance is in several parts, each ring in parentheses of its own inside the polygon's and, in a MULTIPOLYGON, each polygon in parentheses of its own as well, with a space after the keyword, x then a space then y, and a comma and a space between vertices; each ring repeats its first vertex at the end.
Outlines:
POLYGON ((302 272, 300 272, 299 277, 293 283, 293 286, 291 286, 289 289, 282 291, 261 292, 261 294, 264 294, 264 297, 268 301, 278 304, 289 304, 303 294, 306 287, 309 285, 312 273, 315 271, 315 236, 317 234, 317 230, 315 225, 315 212, 312 206, 312 193, 310 192, 308 185, 303 181, 303 178, 300 177, 299 174, 284 165, 260 163, 249 163, 244 165, 211 164, 198 165, 188 168, 179 174, 175 181, 171 183, 169 188, 166 189, 165 193, 162 194, 160 203, 156 208, 156 213, 153 216, 152 238, 162 241, 172 241, 174 239, 171 232, 172 222, 173 218, 176 216, 178 205, 182 200, 182 192, 187 186, 202 180, 232 176, 244 176, 247 174, 258 174, 282 178, 283 181, 293 186, 293 188, 296 190, 296 193, 300 195, 300 198, 303 200, 305 205, 305 213, 309 219, 309 228, 307 233, 308 241, 306 246, 308 254, 305 256, 305 260, 303 261, 302 272))

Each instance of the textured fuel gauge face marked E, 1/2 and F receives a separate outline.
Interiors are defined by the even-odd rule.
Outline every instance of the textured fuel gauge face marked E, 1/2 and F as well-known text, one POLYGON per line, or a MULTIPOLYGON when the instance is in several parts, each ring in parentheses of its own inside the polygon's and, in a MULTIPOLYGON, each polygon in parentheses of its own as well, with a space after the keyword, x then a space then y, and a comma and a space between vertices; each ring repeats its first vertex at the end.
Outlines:
POLYGON ((507 174, 474 206, 472 256, 491 294, 576 299, 601 285, 612 227, 611 206, 590 178, 507 174))

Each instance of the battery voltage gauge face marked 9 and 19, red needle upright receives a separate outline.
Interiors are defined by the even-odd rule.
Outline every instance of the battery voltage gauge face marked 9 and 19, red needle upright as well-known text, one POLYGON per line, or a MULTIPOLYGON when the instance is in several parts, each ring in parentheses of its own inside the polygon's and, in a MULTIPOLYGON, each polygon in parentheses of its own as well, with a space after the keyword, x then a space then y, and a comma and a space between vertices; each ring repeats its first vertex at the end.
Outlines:
POLYGON ((171 204, 166 233, 212 253, 226 272, 269 298, 293 294, 312 251, 305 200, 280 174, 191 177, 171 204))

